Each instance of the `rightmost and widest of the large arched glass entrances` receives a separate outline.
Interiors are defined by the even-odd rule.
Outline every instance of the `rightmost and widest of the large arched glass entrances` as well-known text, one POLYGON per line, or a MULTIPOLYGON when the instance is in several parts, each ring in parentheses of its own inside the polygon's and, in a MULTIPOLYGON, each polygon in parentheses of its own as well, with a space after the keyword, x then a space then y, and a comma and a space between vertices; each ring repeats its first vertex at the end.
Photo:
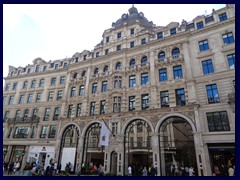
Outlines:
POLYGON ((169 117, 159 128, 160 171, 163 176, 180 176, 180 167, 197 172, 193 130, 182 117, 169 117), (173 171, 173 169, 176 169, 173 171))

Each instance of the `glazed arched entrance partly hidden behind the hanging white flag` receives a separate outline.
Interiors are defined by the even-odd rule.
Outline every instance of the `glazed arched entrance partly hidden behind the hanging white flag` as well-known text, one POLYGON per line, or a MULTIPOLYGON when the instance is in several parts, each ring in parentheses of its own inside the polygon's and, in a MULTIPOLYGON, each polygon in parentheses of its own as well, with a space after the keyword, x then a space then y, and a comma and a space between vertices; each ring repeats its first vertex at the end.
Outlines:
MULTIPOLYGON (((91 124, 86 130, 83 143, 83 160, 86 170, 85 172, 90 171, 90 167, 96 165, 104 166, 104 152, 102 148, 99 147, 99 135, 101 132, 101 124, 96 122, 91 124)), ((83 172, 83 173, 85 173, 83 172)))

